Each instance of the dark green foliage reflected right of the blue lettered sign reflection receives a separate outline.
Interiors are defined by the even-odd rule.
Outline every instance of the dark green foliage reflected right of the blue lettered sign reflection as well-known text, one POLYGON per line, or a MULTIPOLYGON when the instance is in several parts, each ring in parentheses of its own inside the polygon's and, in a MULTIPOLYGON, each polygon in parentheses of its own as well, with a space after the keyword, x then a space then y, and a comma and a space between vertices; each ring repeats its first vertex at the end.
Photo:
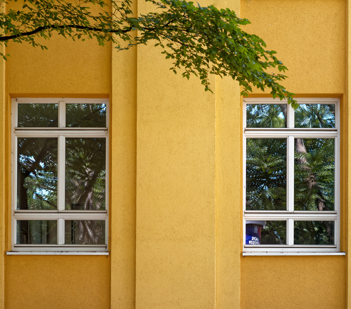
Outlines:
POLYGON ((261 245, 286 245, 286 221, 266 221, 261 229, 261 245))

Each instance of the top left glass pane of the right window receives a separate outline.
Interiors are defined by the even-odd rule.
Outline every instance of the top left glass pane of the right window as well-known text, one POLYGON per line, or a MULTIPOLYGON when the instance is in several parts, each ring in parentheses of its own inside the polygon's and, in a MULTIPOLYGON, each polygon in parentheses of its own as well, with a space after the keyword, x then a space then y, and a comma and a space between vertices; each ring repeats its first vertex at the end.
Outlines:
POLYGON ((246 104, 246 128, 286 128, 286 104, 246 104))

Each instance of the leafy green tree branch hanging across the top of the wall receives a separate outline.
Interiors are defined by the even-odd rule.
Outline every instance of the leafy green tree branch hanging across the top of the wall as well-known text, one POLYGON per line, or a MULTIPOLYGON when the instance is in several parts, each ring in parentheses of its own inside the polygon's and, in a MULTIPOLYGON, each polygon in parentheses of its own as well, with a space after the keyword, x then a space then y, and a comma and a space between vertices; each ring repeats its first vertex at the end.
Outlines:
MULTIPOLYGON (((10 1, 17 0, 5 3, 10 1)), ((209 74, 229 75, 239 81, 243 96, 252 92, 252 86, 262 91, 270 88, 274 98, 297 106, 293 94, 279 84, 287 77, 282 74, 287 68, 274 56, 276 52, 266 50, 257 35, 244 32, 240 26, 250 21, 238 18, 228 8, 195 6, 182 0, 146 0, 156 12, 135 17, 131 0, 21 1, 22 11, 0 13, 0 42, 5 46, 12 40, 47 49, 38 37, 49 39, 54 33, 82 41, 95 37, 102 46, 112 41, 119 50, 152 41, 163 49, 166 59, 173 61, 170 69, 174 73, 182 70, 188 79, 191 74, 198 76, 206 91, 212 92, 209 74), (270 68, 280 73, 267 73, 270 68)), ((5 60, 9 56, 0 55, 5 60)))

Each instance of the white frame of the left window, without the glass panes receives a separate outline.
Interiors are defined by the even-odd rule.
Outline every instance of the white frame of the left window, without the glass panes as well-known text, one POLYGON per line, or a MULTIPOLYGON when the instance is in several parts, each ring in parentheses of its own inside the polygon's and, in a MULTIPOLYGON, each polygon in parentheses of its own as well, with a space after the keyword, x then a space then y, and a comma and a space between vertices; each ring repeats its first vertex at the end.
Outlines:
POLYGON ((11 252, 7 254, 108 254, 108 167, 109 167, 109 99, 104 98, 12 98, 11 100, 11 252), (59 128, 18 128, 18 103, 53 103, 59 107, 59 128), (106 128, 66 128, 66 104, 106 104, 106 128), (58 138, 58 209, 16 210, 17 137, 58 138), (106 138, 106 210, 65 210, 65 138, 106 138), (64 220, 105 220, 105 245, 65 245, 64 220), (16 220, 57 220, 57 245, 16 244, 16 220))

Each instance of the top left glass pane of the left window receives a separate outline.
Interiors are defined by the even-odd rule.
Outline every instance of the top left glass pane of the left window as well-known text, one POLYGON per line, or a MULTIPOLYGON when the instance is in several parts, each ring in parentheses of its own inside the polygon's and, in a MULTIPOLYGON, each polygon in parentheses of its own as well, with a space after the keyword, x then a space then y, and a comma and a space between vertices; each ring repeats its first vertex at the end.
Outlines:
POLYGON ((57 128, 59 105, 49 103, 18 104, 17 126, 57 128))

